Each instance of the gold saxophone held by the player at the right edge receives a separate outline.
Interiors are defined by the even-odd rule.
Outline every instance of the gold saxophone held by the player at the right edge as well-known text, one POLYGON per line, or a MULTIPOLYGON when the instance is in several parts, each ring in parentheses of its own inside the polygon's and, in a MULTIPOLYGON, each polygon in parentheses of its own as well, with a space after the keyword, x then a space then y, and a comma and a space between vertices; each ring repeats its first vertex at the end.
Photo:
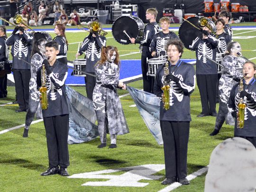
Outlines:
MULTIPOLYGON (((243 79, 240 79, 240 83, 238 85, 238 91, 241 92, 244 90, 244 84, 243 84, 243 79)), ((237 112, 237 128, 244 128, 245 124, 245 108, 246 108, 246 103, 243 98, 240 98, 238 100, 238 112, 237 112)))

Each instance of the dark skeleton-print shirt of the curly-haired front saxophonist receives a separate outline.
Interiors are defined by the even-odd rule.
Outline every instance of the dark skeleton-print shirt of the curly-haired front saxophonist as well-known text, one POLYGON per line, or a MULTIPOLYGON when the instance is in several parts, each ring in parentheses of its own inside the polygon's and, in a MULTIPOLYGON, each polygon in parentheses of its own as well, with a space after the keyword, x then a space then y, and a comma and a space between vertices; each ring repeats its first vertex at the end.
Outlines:
MULTIPOLYGON (((191 121, 190 116, 190 94, 195 89, 195 71, 191 64, 179 60, 176 65, 171 66, 169 71, 180 80, 178 83, 171 81, 170 84, 170 109, 163 109, 160 104, 160 120, 163 121, 191 121), (173 72, 172 72, 173 71, 173 72)), ((161 96, 164 82, 164 66, 157 69, 154 85, 154 93, 161 96)))

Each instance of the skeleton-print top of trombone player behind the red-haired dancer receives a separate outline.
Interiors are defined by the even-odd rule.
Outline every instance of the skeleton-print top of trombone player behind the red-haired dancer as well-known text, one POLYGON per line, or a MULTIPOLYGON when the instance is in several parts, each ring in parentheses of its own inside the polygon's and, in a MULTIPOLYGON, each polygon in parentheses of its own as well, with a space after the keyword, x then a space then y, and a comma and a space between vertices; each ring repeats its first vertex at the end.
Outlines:
POLYGON ((82 55, 82 52, 86 51, 86 68, 85 72, 94 72, 95 64, 101 58, 101 48, 106 46, 106 37, 104 36, 88 36, 84 38, 82 45, 80 47, 79 53, 82 55))

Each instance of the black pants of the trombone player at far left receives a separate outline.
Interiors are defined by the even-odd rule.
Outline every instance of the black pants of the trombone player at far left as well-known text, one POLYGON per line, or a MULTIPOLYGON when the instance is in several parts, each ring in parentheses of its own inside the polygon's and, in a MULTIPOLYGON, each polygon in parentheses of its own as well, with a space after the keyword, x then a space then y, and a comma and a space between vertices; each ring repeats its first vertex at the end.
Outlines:
POLYGON ((29 69, 13 69, 15 81, 16 98, 19 109, 28 109, 29 102, 29 80, 31 73, 29 69))

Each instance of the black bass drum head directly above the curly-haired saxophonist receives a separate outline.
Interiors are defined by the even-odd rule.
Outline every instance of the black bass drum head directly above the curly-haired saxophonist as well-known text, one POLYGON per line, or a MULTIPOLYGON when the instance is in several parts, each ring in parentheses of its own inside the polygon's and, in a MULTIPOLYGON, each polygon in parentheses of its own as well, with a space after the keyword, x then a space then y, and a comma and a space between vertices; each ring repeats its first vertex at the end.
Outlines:
MULTIPOLYGON (((197 22, 200 17, 190 17, 187 20, 199 27, 197 22)), ((183 42, 184 47, 188 50, 193 50, 189 46, 192 45, 193 40, 201 33, 201 31, 192 26, 187 21, 183 21, 179 28, 179 38, 183 42)), ((200 27, 199 27, 200 28, 200 27)))

